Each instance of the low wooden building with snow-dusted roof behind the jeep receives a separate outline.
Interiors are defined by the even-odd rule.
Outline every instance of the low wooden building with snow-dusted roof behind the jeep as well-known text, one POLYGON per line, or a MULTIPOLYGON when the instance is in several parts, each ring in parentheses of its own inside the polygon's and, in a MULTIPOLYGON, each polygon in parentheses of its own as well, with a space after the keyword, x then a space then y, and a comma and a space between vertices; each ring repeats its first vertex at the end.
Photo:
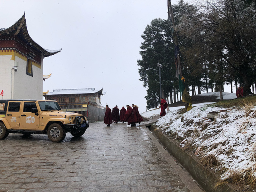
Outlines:
POLYGON ((46 100, 56 100, 63 111, 80 113, 90 121, 104 120, 105 107, 101 106, 103 88, 58 89, 45 94, 46 100))

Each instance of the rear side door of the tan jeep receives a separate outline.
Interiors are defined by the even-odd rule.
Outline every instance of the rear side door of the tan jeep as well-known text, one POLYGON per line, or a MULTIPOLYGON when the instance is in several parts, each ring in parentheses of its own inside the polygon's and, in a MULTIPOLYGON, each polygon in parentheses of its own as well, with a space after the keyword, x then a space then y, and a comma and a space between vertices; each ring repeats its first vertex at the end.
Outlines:
POLYGON ((10 101, 6 112, 6 119, 12 129, 20 127, 20 102, 10 101))

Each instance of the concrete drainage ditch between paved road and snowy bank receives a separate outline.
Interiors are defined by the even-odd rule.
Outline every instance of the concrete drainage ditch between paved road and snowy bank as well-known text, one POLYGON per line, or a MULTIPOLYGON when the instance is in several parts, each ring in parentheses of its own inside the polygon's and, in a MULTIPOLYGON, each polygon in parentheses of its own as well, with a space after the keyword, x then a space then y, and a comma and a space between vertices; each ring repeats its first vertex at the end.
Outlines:
POLYGON ((216 187, 218 177, 198 163, 192 156, 187 154, 180 146, 172 142, 162 132, 160 132, 154 124, 145 125, 152 134, 158 138, 168 152, 178 160, 178 162, 191 174, 191 176, 206 190, 207 192, 238 192, 231 185, 224 184, 216 187))

